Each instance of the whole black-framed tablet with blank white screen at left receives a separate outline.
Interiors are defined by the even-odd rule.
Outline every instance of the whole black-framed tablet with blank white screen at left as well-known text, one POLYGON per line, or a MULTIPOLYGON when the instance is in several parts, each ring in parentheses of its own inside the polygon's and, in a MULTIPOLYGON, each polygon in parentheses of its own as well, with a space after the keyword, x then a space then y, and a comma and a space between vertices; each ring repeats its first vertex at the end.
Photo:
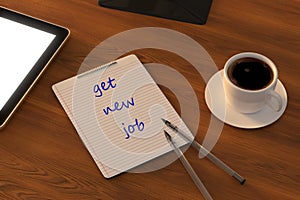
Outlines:
POLYGON ((66 28, 0 7, 0 128, 69 34, 66 28))

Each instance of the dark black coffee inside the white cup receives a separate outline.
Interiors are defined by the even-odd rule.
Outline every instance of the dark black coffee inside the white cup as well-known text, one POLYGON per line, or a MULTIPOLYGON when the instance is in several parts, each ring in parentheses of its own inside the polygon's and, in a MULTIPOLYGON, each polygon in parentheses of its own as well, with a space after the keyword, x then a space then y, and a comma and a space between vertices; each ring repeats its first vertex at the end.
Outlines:
POLYGON ((229 66, 228 77, 236 86, 247 90, 259 90, 273 79, 271 67, 255 58, 241 58, 229 66))

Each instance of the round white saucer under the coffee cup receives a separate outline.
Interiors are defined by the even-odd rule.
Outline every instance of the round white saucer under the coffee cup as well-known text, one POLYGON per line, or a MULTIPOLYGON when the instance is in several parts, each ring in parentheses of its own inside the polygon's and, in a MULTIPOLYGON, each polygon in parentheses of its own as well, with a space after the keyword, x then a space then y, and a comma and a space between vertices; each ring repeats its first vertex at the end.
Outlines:
POLYGON ((206 104, 210 111, 221 121, 238 128, 261 128, 272 124, 284 113, 287 106, 287 93, 279 80, 275 88, 275 91, 282 97, 282 109, 279 112, 266 106, 259 112, 243 114, 226 105, 222 74, 223 70, 214 74, 205 88, 206 104))

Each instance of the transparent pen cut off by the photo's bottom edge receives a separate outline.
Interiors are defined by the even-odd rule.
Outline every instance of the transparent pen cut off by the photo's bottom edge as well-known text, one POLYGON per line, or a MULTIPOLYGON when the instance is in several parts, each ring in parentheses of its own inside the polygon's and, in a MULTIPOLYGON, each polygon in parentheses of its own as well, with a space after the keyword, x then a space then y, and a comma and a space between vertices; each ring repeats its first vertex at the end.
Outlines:
POLYGON ((166 136, 169 144, 171 145, 172 149, 175 151, 175 153, 179 157, 181 163, 183 164, 186 171, 189 173, 190 177, 193 179, 194 183, 196 184, 199 191, 202 193, 203 197, 206 200, 212 200, 213 198, 210 196, 210 194, 207 191, 206 187, 204 186, 202 181, 199 179, 196 172, 194 171, 194 169, 192 168, 192 166, 190 165, 188 160, 183 155, 182 151, 179 148, 177 148, 176 145, 174 144, 171 135, 167 131, 164 131, 164 132, 165 132, 165 136, 166 136))

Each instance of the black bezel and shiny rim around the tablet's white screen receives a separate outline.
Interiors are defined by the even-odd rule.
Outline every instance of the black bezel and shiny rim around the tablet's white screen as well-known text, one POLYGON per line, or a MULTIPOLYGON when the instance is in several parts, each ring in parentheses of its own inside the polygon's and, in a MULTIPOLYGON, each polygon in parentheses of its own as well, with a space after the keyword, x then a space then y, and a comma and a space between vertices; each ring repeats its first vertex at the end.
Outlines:
MULTIPOLYGON (((45 24, 47 26, 51 26, 51 27, 55 27, 55 28, 59 28, 60 29, 60 34, 57 34, 55 36, 55 39, 49 44, 48 48, 46 49, 46 51, 41 55, 41 57, 39 58, 39 60, 35 63, 35 65, 32 67, 32 69, 30 70, 30 72, 26 75, 26 77, 23 79, 23 81, 21 82, 21 84, 18 86, 18 88, 15 90, 15 92, 12 94, 12 96, 9 98, 9 100, 5 103, 5 105, 3 106, 3 108, 0 110, 0 130, 3 129, 8 121, 11 119, 11 117, 13 116, 13 114, 16 112, 16 110, 19 108, 20 104, 23 102, 23 100, 25 99, 25 97, 28 95, 28 93, 30 92, 30 90, 33 88, 33 86, 36 84, 36 82, 39 80, 39 78, 41 77, 41 75, 46 71, 48 65, 51 63, 51 61, 54 59, 54 57, 57 55, 57 53, 61 50, 61 48, 63 47, 63 45, 65 44, 65 42, 68 40, 71 31, 63 26, 51 23, 49 21, 43 20, 43 19, 39 19, 3 6, 0 6, 0 9, 3 9, 5 11, 8 11, 12 14, 18 15, 19 17, 25 17, 27 20, 33 20, 35 22, 38 23, 42 23, 45 24), (61 33, 64 32, 64 35, 62 36, 61 33), (57 36, 58 39, 57 39, 57 36), (53 43, 58 43, 59 45, 56 46, 56 48, 54 48, 53 43), (22 94, 19 94, 19 97, 16 97, 16 94, 18 92, 18 90, 20 89, 20 87, 22 85, 24 85, 24 82, 26 81, 26 79, 28 78, 28 76, 30 75, 30 73, 32 73, 32 70, 34 68, 36 68, 36 65, 38 64, 38 62, 41 61, 41 58, 45 56, 45 53, 49 50, 49 48, 54 48, 55 50, 50 53, 50 57, 49 59, 47 59, 47 62, 43 65, 42 69, 39 70, 38 74, 35 76, 35 78, 33 80, 31 80, 31 82, 28 84, 28 87, 26 87, 26 90, 24 92, 22 92, 22 94), (11 101, 14 101, 13 103, 11 101), (2 115, 4 112, 4 116, 2 115)), ((5 18, 5 17, 4 17, 5 18)), ((14 20, 12 20, 14 21, 14 20)), ((24 23, 23 23, 24 24, 24 23)), ((33 26, 30 26, 33 27, 33 26)), ((33 28, 37 28, 37 27, 33 27, 33 28)), ((40 28, 37 28, 39 30, 41 30, 40 28)), ((47 31, 48 32, 48 31, 47 31)), ((49 32, 48 32, 49 33, 49 32)), ((53 32, 50 32, 53 33, 53 32)), ((28 81, 28 80, 27 80, 28 81)))

